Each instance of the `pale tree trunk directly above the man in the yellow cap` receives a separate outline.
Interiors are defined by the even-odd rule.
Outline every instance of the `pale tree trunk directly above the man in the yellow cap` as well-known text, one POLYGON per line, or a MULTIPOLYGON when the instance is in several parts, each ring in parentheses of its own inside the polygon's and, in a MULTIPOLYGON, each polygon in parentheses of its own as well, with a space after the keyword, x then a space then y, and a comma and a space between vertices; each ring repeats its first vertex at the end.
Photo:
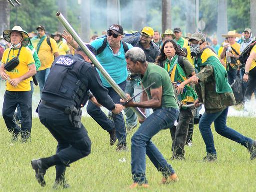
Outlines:
POLYGON ((146 26, 146 0, 133 0, 132 30, 141 31, 146 26))

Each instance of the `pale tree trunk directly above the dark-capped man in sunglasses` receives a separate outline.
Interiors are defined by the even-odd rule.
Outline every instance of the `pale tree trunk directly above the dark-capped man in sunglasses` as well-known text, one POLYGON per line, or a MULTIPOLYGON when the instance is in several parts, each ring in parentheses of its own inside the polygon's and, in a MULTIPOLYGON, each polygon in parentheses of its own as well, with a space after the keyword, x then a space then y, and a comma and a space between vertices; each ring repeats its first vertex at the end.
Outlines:
POLYGON ((118 0, 107 0, 107 29, 112 24, 119 24, 118 0))

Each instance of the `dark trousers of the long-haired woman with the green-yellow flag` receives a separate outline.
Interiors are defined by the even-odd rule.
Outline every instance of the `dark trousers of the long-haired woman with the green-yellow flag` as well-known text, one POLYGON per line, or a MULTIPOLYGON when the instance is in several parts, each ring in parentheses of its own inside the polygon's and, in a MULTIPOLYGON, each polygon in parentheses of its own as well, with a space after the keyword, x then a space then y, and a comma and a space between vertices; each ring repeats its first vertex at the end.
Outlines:
POLYGON ((185 155, 184 147, 187 139, 189 123, 193 120, 194 114, 194 108, 180 109, 178 125, 170 128, 170 134, 173 141, 171 147, 173 158, 184 157, 185 155))

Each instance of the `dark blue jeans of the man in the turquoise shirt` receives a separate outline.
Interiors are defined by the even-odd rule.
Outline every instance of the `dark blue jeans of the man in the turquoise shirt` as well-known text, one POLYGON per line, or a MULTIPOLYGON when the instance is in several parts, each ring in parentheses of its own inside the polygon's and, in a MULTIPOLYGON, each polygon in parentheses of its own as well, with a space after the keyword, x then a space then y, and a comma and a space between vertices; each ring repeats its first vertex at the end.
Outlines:
MULTIPOLYGON (((118 84, 119 87, 124 91, 126 86, 126 81, 118 84)), ((113 88, 108 88, 108 94, 113 99, 114 103, 120 103, 121 97, 115 92, 113 88)), ((106 114, 95 104, 89 101, 87 106, 88 114, 107 132, 112 131, 114 128, 116 130, 116 137, 120 144, 126 144, 126 128, 123 118, 123 114, 111 114, 113 121, 110 120, 106 114)))

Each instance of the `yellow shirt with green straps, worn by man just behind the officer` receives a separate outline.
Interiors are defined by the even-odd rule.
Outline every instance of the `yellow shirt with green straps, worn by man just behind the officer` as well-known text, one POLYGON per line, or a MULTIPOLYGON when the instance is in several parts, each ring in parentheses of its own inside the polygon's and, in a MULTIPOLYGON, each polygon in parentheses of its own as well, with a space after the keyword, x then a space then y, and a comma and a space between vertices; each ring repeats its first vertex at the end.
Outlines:
MULTIPOLYGON (((47 38, 45 38, 41 44, 39 52, 37 52, 39 59, 41 61, 41 67, 38 69, 38 71, 45 70, 46 68, 50 68, 52 62, 54 61, 54 53, 58 52, 58 46, 56 41, 53 38, 50 38, 50 44, 52 47, 52 51, 50 46, 47 43, 47 38)), ((33 45, 36 50, 38 43, 34 43, 33 45)))

